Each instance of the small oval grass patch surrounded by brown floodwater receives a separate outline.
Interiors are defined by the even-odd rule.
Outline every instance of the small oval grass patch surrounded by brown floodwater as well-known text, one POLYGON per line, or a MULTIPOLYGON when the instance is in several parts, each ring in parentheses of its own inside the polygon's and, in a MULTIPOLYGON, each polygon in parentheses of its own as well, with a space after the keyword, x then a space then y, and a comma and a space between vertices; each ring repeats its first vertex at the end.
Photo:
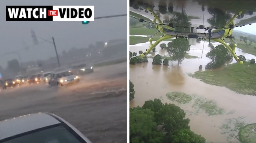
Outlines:
POLYGON ((186 94, 183 92, 168 92, 166 93, 166 96, 169 100, 172 100, 181 104, 189 103, 192 100, 189 94, 186 94))

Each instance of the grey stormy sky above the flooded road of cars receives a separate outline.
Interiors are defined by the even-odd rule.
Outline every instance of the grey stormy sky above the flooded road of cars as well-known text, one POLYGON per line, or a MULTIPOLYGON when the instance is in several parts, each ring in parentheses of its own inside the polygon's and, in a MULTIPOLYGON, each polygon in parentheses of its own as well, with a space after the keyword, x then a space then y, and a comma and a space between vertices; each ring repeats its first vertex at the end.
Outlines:
POLYGON ((87 47, 97 41, 127 38, 126 16, 96 19, 88 25, 82 25, 82 22, 12 22, 6 21, 6 5, 94 5, 95 17, 127 13, 126 0, 0 0, 2 67, 6 67, 8 60, 19 59, 18 54, 5 53, 24 48, 24 43, 30 48, 28 51, 19 51, 22 62, 56 56, 52 43, 38 39, 39 45, 33 45, 30 29, 34 29, 36 36, 49 41, 52 41, 53 36, 60 54, 63 50, 87 47))

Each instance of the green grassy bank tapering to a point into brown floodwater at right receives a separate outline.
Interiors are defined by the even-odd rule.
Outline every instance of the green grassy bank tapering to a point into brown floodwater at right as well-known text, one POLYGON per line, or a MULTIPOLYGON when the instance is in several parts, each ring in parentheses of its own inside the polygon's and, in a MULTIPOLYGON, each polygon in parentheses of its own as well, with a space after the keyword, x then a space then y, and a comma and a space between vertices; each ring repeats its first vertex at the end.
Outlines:
POLYGON ((222 70, 202 71, 189 74, 193 78, 241 93, 256 96, 256 65, 234 63, 222 70))

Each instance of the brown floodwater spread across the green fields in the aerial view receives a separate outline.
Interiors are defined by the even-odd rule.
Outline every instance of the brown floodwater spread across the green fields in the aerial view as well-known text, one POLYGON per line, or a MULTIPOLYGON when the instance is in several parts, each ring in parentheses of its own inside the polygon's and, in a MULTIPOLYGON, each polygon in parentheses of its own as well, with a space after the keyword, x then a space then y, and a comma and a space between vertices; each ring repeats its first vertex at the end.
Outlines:
MULTIPOLYGON (((167 45, 168 42, 162 43, 167 45)), ((166 51, 160 49, 159 45, 156 47, 156 52, 151 54, 166 55, 166 51)), ((142 106, 146 100, 159 98, 163 103, 174 103, 184 109, 187 112, 187 118, 191 119, 189 124, 191 130, 196 134, 201 134, 207 142, 238 142, 234 137, 238 131, 232 135, 232 129, 235 129, 236 123, 228 123, 227 119, 243 117, 240 120, 245 123, 256 123, 256 96, 238 94, 226 87, 209 85, 189 77, 187 73, 198 71, 200 64, 203 65, 204 69, 205 65, 210 62, 209 58, 206 57, 207 52, 210 51, 208 42, 205 42, 204 50, 202 50, 203 45, 204 41, 197 43, 196 46, 192 45, 191 51, 188 53, 192 56, 198 56, 198 58, 184 59, 179 68, 176 67, 177 62, 169 62, 168 67, 152 65, 153 59, 151 58, 148 58, 149 63, 130 65, 130 80, 135 85, 135 99, 130 101, 130 107, 142 106), (214 100, 219 108, 225 110, 225 114, 208 116, 205 112, 195 113, 192 103, 179 104, 168 100, 166 93, 173 91, 193 94, 196 98, 214 100), (223 124, 230 127, 230 129, 225 130, 226 134, 221 133, 224 131, 224 129, 220 129, 223 124)), ((217 43, 213 43, 213 45, 216 46, 217 43)), ((147 47, 149 47, 149 42, 130 45, 130 51, 145 51, 147 47)), ((247 59, 256 58, 251 54, 243 53, 238 48, 236 53, 237 55, 244 55, 247 59)), ((234 62, 235 60, 233 60, 234 62)))

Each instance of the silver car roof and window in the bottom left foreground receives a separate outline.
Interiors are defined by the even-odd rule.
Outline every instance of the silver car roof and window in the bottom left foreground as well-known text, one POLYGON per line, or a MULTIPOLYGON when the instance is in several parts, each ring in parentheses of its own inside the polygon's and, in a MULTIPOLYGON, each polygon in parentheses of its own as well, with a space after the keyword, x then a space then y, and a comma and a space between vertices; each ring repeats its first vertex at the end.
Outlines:
POLYGON ((92 143, 73 125, 52 113, 0 121, 0 143, 92 143))

